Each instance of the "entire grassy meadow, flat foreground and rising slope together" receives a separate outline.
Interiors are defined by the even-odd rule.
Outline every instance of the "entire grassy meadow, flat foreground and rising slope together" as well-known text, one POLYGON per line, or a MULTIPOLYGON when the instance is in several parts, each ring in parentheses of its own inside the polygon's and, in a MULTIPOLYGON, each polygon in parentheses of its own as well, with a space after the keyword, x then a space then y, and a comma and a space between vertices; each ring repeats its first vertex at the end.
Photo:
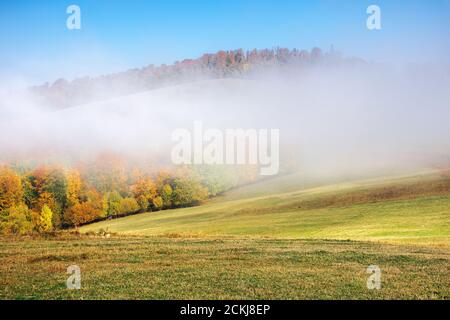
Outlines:
POLYGON ((297 188, 296 176, 280 179, 80 234, 0 238, 0 298, 450 298, 450 177, 297 188), (66 289, 73 264, 81 290, 66 289), (369 265, 381 290, 366 287, 369 265))

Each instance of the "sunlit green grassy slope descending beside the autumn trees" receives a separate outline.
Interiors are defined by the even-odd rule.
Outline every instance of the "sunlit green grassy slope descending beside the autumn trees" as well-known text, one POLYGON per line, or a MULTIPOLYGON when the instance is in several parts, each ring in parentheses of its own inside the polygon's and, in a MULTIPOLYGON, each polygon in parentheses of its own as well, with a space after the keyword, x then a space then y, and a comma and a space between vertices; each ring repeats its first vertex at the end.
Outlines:
POLYGON ((299 175, 291 175, 234 190, 199 207, 103 221, 84 226, 81 232, 101 229, 172 237, 445 245, 450 243, 450 177, 429 171, 307 188, 299 175))

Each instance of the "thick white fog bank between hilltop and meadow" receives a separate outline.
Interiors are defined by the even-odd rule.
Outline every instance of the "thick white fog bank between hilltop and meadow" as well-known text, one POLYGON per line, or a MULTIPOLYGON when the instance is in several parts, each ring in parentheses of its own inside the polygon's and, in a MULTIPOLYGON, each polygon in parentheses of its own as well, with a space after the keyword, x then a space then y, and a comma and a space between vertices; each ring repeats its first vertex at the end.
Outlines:
POLYGON ((328 173, 450 165, 449 69, 317 66, 202 80, 54 111, 3 93, 0 161, 113 151, 170 163, 172 132, 279 129, 281 168, 328 173))

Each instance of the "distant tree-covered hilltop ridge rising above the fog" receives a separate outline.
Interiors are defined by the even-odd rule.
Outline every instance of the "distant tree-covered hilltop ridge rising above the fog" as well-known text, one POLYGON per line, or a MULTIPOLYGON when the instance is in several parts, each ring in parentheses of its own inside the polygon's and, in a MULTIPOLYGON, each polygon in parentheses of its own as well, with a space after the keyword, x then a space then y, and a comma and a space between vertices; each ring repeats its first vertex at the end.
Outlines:
POLYGON ((344 58, 333 48, 325 53, 319 48, 311 51, 287 48, 238 49, 207 53, 196 59, 176 61, 172 65, 148 65, 95 78, 84 77, 70 82, 58 79, 53 84, 32 87, 30 91, 40 104, 61 109, 198 80, 254 79, 273 72, 295 74, 311 66, 356 63, 362 63, 362 60, 344 58))

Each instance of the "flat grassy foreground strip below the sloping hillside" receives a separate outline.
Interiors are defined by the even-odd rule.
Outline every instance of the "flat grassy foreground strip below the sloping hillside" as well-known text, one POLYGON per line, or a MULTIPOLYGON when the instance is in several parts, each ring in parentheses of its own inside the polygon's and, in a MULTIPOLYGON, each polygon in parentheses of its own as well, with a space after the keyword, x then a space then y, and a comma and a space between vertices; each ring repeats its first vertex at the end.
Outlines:
POLYGON ((332 240, 0 240, 2 299, 448 299, 443 248, 332 240), (81 290, 66 269, 81 268, 81 290), (382 271, 368 290, 366 269, 382 271))

